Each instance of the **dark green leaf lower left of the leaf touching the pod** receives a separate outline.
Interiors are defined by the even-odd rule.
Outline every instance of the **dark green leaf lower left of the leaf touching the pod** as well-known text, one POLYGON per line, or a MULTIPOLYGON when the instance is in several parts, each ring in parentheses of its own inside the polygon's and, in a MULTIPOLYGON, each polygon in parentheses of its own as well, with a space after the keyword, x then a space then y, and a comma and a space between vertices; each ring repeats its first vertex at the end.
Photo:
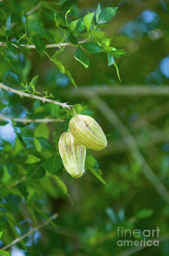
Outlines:
POLYGON ((42 162, 30 164, 27 167, 25 181, 28 181, 29 179, 42 179, 45 176, 45 174, 46 172, 42 167, 42 162))

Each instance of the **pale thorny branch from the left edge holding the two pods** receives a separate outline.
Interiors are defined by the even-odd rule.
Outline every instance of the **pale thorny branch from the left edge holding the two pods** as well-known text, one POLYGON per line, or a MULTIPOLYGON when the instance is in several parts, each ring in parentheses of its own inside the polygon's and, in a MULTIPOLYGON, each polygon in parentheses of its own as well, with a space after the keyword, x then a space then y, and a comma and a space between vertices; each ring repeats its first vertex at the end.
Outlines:
POLYGON ((61 103, 61 102, 57 102, 55 100, 49 100, 49 99, 45 98, 45 96, 40 97, 40 96, 29 94, 29 93, 26 93, 26 92, 23 92, 23 91, 15 90, 13 88, 10 88, 10 87, 4 85, 3 83, 0 83, 0 89, 4 89, 4 90, 7 90, 9 92, 13 92, 15 94, 18 94, 18 95, 20 95, 21 98, 22 98, 22 96, 25 96, 25 97, 32 98, 32 99, 41 100, 43 103, 49 102, 49 103, 52 103, 52 104, 55 104, 55 105, 59 105, 62 108, 68 108, 69 110, 73 106, 73 105, 67 105, 67 102, 61 103))

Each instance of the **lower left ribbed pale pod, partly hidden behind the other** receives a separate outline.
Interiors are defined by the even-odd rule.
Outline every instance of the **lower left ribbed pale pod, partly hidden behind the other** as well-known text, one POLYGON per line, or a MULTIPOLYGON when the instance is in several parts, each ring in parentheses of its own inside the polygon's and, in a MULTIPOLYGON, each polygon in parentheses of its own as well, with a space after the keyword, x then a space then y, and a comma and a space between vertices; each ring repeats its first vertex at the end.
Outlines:
POLYGON ((84 174, 86 148, 75 141, 70 131, 61 135, 59 153, 65 170, 73 178, 79 178, 84 174))

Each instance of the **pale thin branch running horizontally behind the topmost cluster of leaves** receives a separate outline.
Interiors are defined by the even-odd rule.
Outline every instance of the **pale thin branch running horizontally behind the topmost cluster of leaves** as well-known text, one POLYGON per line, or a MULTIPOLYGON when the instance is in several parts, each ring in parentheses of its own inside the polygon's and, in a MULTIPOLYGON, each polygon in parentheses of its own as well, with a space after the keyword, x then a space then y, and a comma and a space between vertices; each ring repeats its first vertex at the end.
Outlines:
MULTIPOLYGON (((85 43, 85 42, 87 42, 87 40, 85 39, 85 40, 82 40, 82 41, 79 41, 78 43, 79 44, 82 44, 82 43, 85 43)), ((11 42, 12 43, 12 42, 11 42)), ((17 46, 17 45, 15 45, 15 44, 12 44, 12 45, 14 45, 16 48, 19 48, 19 46, 17 46)), ((6 43, 4 43, 4 42, 0 42, 0 46, 5 46, 5 47, 7 47, 7 44, 6 43)), ((32 44, 32 45, 27 45, 27 44, 21 44, 21 46, 24 46, 25 48, 27 48, 27 49, 35 49, 35 45, 34 44, 32 44)), ((68 42, 68 43, 58 43, 58 44, 47 44, 46 45, 46 48, 59 48, 59 49, 61 49, 61 47, 63 47, 63 46, 77 46, 77 45, 74 45, 74 44, 72 44, 72 43, 70 43, 70 42, 68 42)))

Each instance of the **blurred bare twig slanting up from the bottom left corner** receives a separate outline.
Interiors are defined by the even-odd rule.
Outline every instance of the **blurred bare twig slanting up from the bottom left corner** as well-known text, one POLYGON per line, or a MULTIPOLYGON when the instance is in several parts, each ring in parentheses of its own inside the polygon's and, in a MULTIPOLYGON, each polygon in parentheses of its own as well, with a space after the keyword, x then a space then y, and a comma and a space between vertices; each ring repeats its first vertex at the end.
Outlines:
MULTIPOLYGON (((50 220, 54 220, 55 218, 57 218, 59 215, 58 213, 55 213, 54 215, 52 215, 50 217, 50 220)), ((11 247, 12 245, 14 245, 15 243, 18 243, 20 242, 21 240, 23 240, 24 238, 26 238, 27 236, 33 234, 36 230, 42 228, 43 226, 47 225, 50 221, 49 220, 45 220, 43 223, 39 224, 38 226, 34 227, 33 229, 29 230, 27 233, 25 233, 23 236, 20 236, 16 239, 14 239, 11 243, 3 246, 1 249, 2 250, 6 250, 8 249, 9 247, 11 247)))

